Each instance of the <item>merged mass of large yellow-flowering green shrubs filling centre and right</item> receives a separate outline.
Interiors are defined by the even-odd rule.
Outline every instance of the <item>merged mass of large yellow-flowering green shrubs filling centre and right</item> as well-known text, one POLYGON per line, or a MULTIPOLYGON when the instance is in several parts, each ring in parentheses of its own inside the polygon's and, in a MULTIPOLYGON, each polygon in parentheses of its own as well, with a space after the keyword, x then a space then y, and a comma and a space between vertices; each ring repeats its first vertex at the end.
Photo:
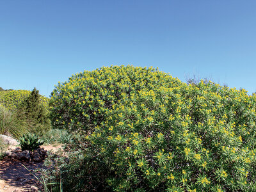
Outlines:
POLYGON ((84 132, 60 168, 66 189, 256 191, 256 96, 245 90, 103 67, 59 83, 50 103, 56 127, 84 132))

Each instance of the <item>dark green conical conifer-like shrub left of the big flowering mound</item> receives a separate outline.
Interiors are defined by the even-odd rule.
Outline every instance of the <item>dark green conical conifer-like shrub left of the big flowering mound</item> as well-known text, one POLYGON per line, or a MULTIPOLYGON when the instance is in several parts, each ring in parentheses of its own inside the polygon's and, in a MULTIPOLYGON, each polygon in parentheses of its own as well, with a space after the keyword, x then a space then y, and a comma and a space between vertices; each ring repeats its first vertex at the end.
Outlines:
POLYGON ((48 118, 47 111, 40 105, 40 95, 36 88, 20 104, 19 111, 24 112, 26 118, 31 122, 31 131, 38 133, 50 129, 51 122, 48 118))

